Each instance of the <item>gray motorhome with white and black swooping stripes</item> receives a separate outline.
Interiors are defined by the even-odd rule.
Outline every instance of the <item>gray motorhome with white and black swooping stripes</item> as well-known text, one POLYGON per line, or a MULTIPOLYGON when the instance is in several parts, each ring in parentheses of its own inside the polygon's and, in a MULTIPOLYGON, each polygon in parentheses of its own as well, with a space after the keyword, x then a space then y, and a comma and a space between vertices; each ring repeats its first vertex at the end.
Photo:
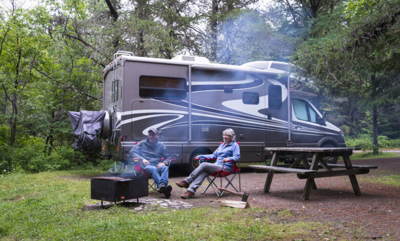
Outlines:
POLYGON ((160 132, 173 165, 188 171, 196 167, 194 156, 219 146, 227 128, 236 133, 241 162, 263 162, 270 155, 265 147, 346 146, 341 130, 322 121, 309 101, 315 94, 288 93, 287 63, 231 66, 131 55, 116 53, 103 71, 103 155, 128 160, 149 128, 160 132))

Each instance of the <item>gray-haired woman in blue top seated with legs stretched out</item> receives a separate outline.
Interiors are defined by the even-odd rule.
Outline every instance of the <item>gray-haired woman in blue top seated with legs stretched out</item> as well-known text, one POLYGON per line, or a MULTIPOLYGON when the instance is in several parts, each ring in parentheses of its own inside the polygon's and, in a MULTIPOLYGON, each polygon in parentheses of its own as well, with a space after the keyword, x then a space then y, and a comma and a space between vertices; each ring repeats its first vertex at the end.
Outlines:
POLYGON ((187 178, 175 183, 178 187, 188 188, 185 194, 181 196, 182 198, 194 198, 194 193, 202 185, 203 180, 212 173, 221 170, 224 163, 224 172, 233 171, 234 163, 229 162, 229 160, 236 162, 241 157, 235 137, 235 132, 232 129, 226 129, 223 132, 224 142, 219 145, 214 153, 197 156, 198 158, 216 158, 217 160, 215 163, 202 163, 187 178))

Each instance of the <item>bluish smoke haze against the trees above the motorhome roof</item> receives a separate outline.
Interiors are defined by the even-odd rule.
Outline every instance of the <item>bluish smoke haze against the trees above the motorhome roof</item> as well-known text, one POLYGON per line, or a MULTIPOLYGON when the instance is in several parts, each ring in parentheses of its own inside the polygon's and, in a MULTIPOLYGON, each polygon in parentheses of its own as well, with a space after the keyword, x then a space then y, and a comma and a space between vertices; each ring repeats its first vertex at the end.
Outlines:
POLYGON ((276 33, 259 13, 248 9, 220 24, 217 38, 217 62, 223 64, 289 62, 294 50, 294 39, 276 33))

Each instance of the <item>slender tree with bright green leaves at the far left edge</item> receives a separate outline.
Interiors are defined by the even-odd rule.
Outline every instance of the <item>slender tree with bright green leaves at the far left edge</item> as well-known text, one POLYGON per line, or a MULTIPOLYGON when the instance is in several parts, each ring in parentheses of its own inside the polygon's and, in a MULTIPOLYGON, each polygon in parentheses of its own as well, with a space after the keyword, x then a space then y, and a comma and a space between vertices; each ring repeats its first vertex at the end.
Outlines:
MULTIPOLYGON (((20 106, 26 97, 29 85, 37 81, 33 68, 45 55, 46 37, 41 31, 45 24, 43 9, 24 10, 12 3, 12 9, 2 11, 2 39, 0 46, 0 74, 10 130, 9 148, 12 151, 16 140, 20 106), (10 112, 8 112, 10 110, 10 112)), ((45 14, 44 14, 45 15, 45 14)), ((11 157, 8 156, 11 169, 11 157)))

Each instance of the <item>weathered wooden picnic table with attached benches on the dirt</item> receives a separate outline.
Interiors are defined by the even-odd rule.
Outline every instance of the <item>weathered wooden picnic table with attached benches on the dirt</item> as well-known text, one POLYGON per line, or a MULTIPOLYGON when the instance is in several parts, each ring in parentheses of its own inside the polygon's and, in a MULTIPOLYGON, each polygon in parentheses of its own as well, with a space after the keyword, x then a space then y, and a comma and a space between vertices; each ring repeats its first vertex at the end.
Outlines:
POLYGON ((264 192, 269 192, 271 187, 272 178, 275 171, 285 172, 285 173, 296 173, 299 179, 307 179, 306 185, 304 187, 302 200, 308 200, 310 196, 311 187, 316 189, 314 178, 319 177, 331 177, 331 176, 349 176, 351 186, 355 195, 360 195, 361 191, 357 183, 355 175, 357 174, 367 174, 369 169, 378 168, 377 166, 364 166, 364 165, 352 165, 349 156, 353 154, 353 150, 356 148, 323 148, 323 147, 303 147, 303 148, 292 148, 292 147, 282 147, 282 148, 265 148, 265 151, 270 151, 273 153, 271 165, 250 165, 249 167, 254 169, 268 170, 267 179, 264 185, 264 192), (307 155, 312 154, 312 162, 309 164, 307 155), (289 167, 277 167, 276 164, 279 159, 279 155, 282 154, 295 154, 298 157, 289 167), (324 161, 323 157, 327 156, 342 156, 344 165, 341 164, 328 164, 324 161), (300 163, 303 166, 298 166, 300 163), (322 168, 322 171, 318 169, 322 168), (335 168, 340 168, 340 170, 333 170, 335 168))

